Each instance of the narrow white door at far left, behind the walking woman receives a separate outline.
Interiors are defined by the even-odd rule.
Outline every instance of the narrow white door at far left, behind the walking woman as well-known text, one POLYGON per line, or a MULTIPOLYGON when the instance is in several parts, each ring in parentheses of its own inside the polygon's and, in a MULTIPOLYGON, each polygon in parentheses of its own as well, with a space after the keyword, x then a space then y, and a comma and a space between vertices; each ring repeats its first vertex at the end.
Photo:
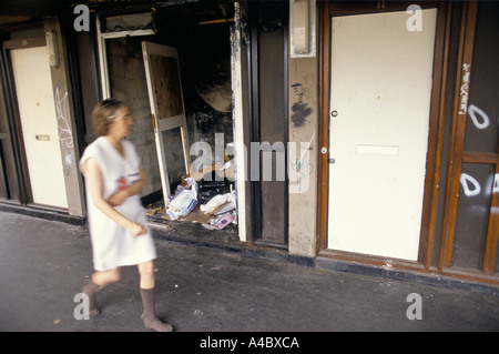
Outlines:
POLYGON ((33 202, 65 209, 68 198, 49 50, 16 49, 10 54, 33 202))

